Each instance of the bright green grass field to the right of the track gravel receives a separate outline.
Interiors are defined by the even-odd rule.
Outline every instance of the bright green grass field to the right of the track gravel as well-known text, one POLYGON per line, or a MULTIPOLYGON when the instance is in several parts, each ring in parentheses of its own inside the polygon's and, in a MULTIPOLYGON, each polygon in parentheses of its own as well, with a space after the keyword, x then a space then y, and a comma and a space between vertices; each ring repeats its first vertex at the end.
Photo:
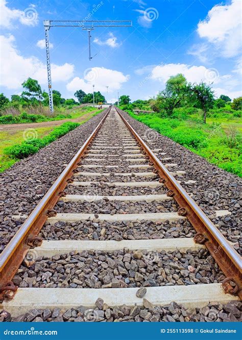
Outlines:
POLYGON ((135 115, 131 111, 129 114, 210 163, 242 177, 241 118, 210 117, 204 125, 196 115, 191 119, 177 119, 161 118, 158 114, 135 115))

